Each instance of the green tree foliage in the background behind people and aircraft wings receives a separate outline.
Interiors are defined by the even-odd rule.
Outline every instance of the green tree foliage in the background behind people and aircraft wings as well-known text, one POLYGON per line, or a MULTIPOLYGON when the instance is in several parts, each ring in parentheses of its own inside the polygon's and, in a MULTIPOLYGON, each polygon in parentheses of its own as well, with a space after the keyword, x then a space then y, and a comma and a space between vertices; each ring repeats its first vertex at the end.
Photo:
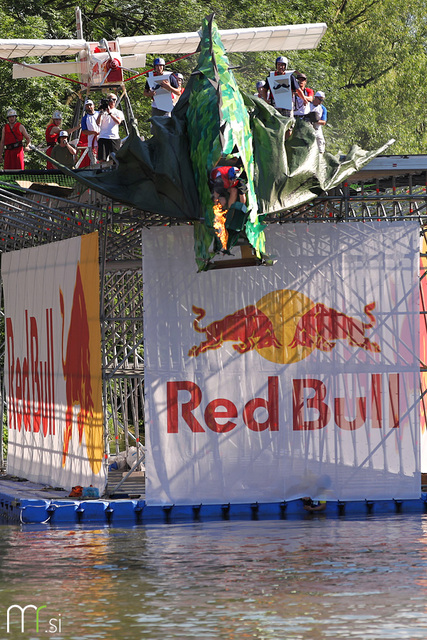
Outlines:
MULTIPOLYGON (((328 150, 344 151, 353 143, 374 148, 396 139, 393 153, 421 153, 427 142, 424 118, 427 70, 427 0, 336 0, 331 3, 291 0, 83 0, 80 7, 87 39, 147 33, 195 31, 215 12, 220 29, 326 22, 328 30, 316 50, 283 52, 291 67, 303 70, 309 86, 326 93, 328 150)), ((75 7, 65 0, 0 0, 2 38, 73 38, 75 7)), ((161 51, 156 52, 162 54, 161 51)), ((279 52, 277 52, 279 53, 279 52)), ((276 52, 234 54, 230 62, 242 89, 273 68, 276 52)), ((154 58, 154 55, 153 55, 154 58)), ((170 61, 173 56, 167 57, 170 61)), ((49 61, 49 60, 44 60, 49 61)), ((40 62, 34 60, 34 62, 40 62)), ((151 67, 152 58, 147 60, 151 67)), ((172 65, 188 79, 195 58, 172 65)), ((71 114, 78 85, 58 78, 12 80, 9 62, 0 61, 0 113, 15 107, 36 144, 52 112, 61 109, 64 124, 71 114)), ((149 135, 150 103, 143 98, 145 78, 127 84, 140 130, 149 135)), ((3 117, 3 115, 2 115, 3 117)), ((37 160, 27 156, 27 167, 37 160), (31 158, 31 159, 30 159, 31 158)))

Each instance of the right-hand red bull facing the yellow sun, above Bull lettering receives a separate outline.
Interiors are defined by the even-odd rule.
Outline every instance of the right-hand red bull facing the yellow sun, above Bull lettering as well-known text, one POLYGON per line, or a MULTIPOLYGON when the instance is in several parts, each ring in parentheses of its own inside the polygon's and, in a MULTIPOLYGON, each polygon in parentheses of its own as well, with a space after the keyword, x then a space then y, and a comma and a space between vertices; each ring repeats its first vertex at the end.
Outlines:
POLYGON ((351 347, 379 353, 381 349, 378 344, 366 337, 366 331, 372 329, 376 323, 372 313, 374 309, 375 302, 367 304, 364 311, 370 322, 361 322, 357 318, 317 303, 301 316, 289 346, 293 349, 302 346, 332 351, 337 340, 347 340, 351 347))

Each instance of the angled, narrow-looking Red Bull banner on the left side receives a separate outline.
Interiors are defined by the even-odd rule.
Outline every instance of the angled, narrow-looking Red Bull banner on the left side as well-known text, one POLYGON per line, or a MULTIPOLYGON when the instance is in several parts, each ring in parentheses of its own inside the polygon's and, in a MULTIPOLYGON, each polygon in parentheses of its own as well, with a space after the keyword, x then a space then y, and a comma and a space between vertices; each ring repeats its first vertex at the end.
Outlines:
POLYGON ((2 256, 7 471, 104 490, 98 234, 2 256))

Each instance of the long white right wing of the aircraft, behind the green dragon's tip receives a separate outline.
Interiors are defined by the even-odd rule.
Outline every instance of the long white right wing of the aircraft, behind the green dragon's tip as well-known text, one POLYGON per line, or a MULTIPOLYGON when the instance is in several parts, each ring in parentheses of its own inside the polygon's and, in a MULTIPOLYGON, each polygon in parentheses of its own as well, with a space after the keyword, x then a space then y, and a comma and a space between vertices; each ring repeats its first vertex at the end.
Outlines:
MULTIPOLYGON (((318 24, 294 24, 282 27, 257 27, 254 29, 219 30, 227 52, 291 51, 315 49, 327 26, 318 24)), ((170 33, 166 35, 134 36, 118 38, 122 54, 193 53, 199 46, 200 36, 194 33, 170 33)))

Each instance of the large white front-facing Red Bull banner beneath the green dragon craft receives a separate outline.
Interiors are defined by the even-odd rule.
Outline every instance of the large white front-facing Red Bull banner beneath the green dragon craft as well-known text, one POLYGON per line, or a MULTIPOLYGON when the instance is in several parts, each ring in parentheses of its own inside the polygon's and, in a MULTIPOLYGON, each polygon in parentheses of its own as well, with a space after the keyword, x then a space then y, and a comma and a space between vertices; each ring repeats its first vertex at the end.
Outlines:
POLYGON ((204 273, 192 243, 143 236, 148 503, 419 497, 418 224, 270 226, 274 265, 204 273))

